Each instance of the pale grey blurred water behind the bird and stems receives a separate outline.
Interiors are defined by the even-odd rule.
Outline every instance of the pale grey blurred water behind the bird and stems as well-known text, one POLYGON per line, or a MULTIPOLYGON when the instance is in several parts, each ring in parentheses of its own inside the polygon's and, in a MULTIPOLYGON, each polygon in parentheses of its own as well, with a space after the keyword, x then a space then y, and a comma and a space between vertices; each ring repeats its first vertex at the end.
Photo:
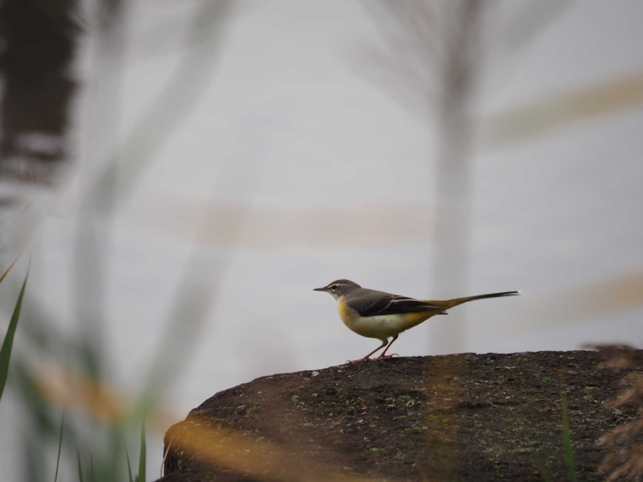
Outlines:
MULTIPOLYGON (((158 94, 184 53, 192 7, 137 1, 128 8, 114 106, 121 138, 151 103, 163 102, 158 94)), ((643 267, 642 107, 495 148, 480 143, 472 162, 469 279, 446 292, 431 279, 435 122, 430 106, 407 109, 390 85, 370 78, 365 52, 383 40, 363 7, 235 3, 197 107, 167 138, 150 139, 159 144, 153 161, 119 200, 113 221, 98 220, 107 263, 104 344, 124 393, 138 388, 154 359, 203 220, 212 225, 199 238, 204 272, 195 277, 213 269, 221 285, 163 403, 177 420, 221 389, 340 364, 374 348, 376 341, 341 324, 330 296, 312 292, 335 278, 426 298, 523 290, 520 298, 472 303, 401 335, 393 351, 403 356, 443 353, 431 334, 445 323, 465 326, 466 336, 450 341, 459 352, 643 341, 640 306, 570 314, 552 298, 643 267), (230 212, 239 224, 231 238, 217 221, 230 212)), ((642 14, 635 0, 575 2, 517 52, 490 35, 476 116, 640 72, 642 14)), ((93 46, 90 35, 80 66, 87 76, 93 46)), ((35 229, 16 231, 28 233, 32 254, 25 309, 38 299, 66 330, 76 326, 71 269, 84 190, 111 151, 91 145, 87 126, 101 115, 89 110, 92 92, 86 88, 78 106, 77 168, 59 192, 34 203, 37 221, 25 224, 35 229)), ((17 251, 23 237, 14 239, 17 251)), ((23 256, 15 270, 25 267, 23 256)), ((3 292, 3 303, 16 293, 3 292)), ((0 425, 17 431, 12 401, 3 400, 0 425)), ((150 479, 161 440, 150 433, 150 479)), ((16 447, 5 436, 0 444, 0 479, 19 479, 10 456, 16 447)), ((62 479, 73 478, 64 467, 62 479)))

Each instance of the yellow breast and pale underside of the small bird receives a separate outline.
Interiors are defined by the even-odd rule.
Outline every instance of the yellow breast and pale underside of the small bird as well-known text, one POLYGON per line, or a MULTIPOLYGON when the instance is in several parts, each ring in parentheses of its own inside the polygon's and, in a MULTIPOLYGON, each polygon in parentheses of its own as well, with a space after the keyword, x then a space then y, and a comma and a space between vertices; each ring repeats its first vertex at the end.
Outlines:
POLYGON ((341 321, 349 330, 367 338, 383 340, 400 334, 404 330, 417 326, 437 312, 392 314, 360 317, 356 312, 338 303, 341 321))

